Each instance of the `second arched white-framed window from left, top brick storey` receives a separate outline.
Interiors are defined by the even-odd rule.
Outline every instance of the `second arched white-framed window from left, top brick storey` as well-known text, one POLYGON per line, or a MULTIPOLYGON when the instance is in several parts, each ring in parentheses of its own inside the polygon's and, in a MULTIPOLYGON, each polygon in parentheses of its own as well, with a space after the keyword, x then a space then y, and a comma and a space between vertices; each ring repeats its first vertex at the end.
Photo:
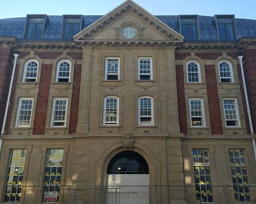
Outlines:
POLYGON ((70 82, 71 62, 67 59, 57 64, 56 82, 70 82))

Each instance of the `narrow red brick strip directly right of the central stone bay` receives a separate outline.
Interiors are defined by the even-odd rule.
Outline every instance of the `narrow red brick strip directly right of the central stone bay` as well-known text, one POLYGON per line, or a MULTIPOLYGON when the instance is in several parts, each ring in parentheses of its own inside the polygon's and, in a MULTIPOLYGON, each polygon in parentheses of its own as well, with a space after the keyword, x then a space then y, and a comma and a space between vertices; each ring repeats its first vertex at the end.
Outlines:
POLYGON ((188 134, 185 89, 184 89, 184 74, 183 74, 182 65, 176 65, 176 81, 177 81, 177 99, 178 99, 180 133, 188 134))

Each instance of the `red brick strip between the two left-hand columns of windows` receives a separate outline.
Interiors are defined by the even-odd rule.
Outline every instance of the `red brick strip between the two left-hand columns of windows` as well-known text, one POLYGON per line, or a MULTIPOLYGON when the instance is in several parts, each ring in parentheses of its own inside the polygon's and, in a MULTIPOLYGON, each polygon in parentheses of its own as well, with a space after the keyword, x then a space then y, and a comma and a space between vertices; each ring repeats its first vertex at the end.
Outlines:
POLYGON ((52 64, 42 64, 33 135, 44 135, 51 84, 52 64))

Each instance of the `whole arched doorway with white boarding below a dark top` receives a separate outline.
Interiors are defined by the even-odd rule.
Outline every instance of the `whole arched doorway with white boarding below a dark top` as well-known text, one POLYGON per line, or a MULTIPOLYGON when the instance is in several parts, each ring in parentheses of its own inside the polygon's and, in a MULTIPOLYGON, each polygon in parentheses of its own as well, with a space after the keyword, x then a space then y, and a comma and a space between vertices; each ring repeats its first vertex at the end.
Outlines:
POLYGON ((117 203, 149 203, 149 170, 147 161, 137 152, 116 154, 108 164, 108 204, 118 194, 117 203))

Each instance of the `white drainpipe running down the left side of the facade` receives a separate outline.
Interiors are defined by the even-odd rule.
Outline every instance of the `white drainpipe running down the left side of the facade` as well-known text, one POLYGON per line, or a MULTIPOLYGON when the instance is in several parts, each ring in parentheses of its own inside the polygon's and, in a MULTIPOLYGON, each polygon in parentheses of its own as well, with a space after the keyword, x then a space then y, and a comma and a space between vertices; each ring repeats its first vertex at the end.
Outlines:
MULTIPOLYGON (((4 113, 4 120, 3 120, 1 135, 4 135, 7 113, 8 113, 8 110, 9 110, 10 99, 11 99, 11 94, 12 94, 12 85, 13 85, 13 80, 14 80, 14 74, 15 74, 17 59, 19 57, 19 54, 13 54, 13 55, 14 55, 14 63, 13 63, 13 68, 12 68, 12 77, 11 77, 11 82, 10 82, 10 87, 9 87, 9 92, 8 92, 8 98, 7 98, 6 107, 5 107, 5 113, 4 113)), ((2 145, 3 145, 3 139, 0 139, 0 155, 1 155, 2 145)))

